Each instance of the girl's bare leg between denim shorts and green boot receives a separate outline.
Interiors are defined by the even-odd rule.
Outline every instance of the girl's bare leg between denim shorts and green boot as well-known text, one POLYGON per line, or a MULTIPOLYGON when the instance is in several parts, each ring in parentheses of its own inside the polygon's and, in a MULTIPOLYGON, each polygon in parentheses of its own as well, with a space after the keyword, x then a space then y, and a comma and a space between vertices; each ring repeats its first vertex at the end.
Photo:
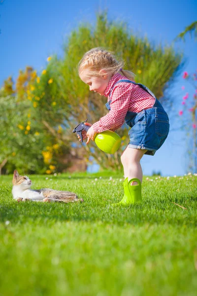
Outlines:
MULTIPOLYGON (((124 150, 121 156, 121 162, 124 168, 125 179, 128 177, 128 181, 132 178, 137 178, 142 182, 142 168, 140 160, 146 149, 134 149, 129 146, 124 150)), ((131 185, 137 185, 137 182, 132 182, 131 185)))

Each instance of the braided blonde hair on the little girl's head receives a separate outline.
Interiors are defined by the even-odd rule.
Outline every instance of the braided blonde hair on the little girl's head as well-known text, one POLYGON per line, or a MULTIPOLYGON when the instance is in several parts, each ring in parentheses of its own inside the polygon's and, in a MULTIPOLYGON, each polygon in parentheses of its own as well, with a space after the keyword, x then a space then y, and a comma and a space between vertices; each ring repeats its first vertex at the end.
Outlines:
POLYGON ((108 75, 120 73, 122 76, 130 80, 134 79, 131 71, 123 70, 124 62, 118 61, 111 51, 107 51, 101 47, 92 48, 87 51, 78 64, 79 75, 88 69, 88 75, 100 76, 99 71, 102 69, 108 75))

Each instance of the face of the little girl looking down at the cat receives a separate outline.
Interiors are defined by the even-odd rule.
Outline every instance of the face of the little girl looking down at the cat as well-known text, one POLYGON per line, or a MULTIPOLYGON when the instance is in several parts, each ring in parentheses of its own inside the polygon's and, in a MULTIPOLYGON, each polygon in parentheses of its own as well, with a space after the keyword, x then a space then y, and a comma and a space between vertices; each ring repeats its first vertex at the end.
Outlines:
POLYGON ((102 72, 102 70, 100 70, 100 74, 101 74, 100 77, 90 76, 90 75, 88 75, 88 70, 84 70, 80 74, 80 78, 83 82, 85 82, 86 84, 88 84, 90 86, 90 90, 97 92, 98 94, 103 96, 105 89, 107 87, 107 84, 109 83, 109 80, 111 79, 111 76, 102 72))

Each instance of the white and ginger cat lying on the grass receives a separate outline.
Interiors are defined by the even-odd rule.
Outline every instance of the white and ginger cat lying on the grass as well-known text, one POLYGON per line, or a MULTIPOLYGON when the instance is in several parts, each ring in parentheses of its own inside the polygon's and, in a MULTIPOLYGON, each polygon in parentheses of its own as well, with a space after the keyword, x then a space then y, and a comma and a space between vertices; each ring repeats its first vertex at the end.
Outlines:
POLYGON ((38 190, 30 189, 32 181, 27 176, 20 176, 17 170, 14 171, 12 195, 16 201, 44 201, 55 202, 62 201, 68 202, 83 202, 82 198, 78 198, 77 195, 69 191, 60 191, 50 188, 42 188, 38 190))

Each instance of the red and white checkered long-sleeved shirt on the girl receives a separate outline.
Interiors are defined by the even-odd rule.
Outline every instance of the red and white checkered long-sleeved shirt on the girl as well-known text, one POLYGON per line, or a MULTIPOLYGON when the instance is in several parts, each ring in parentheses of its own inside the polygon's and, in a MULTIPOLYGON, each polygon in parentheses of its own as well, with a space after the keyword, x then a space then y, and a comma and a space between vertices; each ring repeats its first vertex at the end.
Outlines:
MULTIPOLYGON (((114 84, 121 79, 128 78, 120 74, 115 74, 109 80, 104 92, 104 96, 108 98, 107 102, 109 102, 110 90, 113 88, 114 84)), ((152 108, 155 103, 155 98, 142 87, 127 82, 119 82, 115 85, 111 92, 110 100, 111 110, 109 113, 93 124, 93 128, 97 133, 106 130, 117 130, 123 125, 128 111, 138 113, 144 109, 152 108)))

